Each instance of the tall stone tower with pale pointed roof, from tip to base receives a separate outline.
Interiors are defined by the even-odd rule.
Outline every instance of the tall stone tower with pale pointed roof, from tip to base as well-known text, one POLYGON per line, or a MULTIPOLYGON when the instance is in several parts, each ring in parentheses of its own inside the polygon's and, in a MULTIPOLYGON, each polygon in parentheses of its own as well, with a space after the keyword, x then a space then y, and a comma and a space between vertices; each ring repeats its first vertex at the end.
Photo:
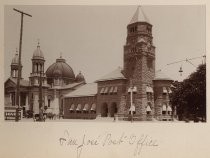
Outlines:
MULTIPOLYGON (((139 120, 146 120, 154 114, 152 80, 155 76, 155 47, 152 25, 139 6, 127 25, 127 38, 124 45, 124 75, 128 79, 127 90, 135 87, 133 104, 139 120)), ((129 93, 126 109, 131 105, 129 93)))

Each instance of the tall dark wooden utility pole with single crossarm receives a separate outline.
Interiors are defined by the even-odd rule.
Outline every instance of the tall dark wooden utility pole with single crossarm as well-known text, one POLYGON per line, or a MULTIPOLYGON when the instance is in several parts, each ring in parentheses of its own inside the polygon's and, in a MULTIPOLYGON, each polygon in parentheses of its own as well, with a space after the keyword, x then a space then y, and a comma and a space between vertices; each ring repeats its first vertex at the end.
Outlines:
POLYGON ((14 11, 21 14, 21 25, 20 25, 20 43, 19 43, 19 59, 18 59, 18 78, 17 78, 17 94, 16 94, 16 117, 15 121, 19 120, 19 108, 20 108, 20 78, 21 78, 21 51, 22 51, 22 36, 23 36, 23 16, 27 15, 32 17, 30 14, 24 13, 23 11, 13 8, 14 11))

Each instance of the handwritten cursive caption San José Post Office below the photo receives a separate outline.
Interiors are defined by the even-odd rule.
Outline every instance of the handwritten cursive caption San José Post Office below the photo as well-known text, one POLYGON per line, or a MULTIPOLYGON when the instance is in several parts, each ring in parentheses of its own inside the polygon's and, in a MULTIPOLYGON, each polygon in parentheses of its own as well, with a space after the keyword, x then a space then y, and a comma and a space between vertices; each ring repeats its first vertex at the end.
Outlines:
POLYGON ((153 139, 148 134, 126 134, 122 132, 117 136, 113 135, 111 132, 98 134, 94 138, 83 134, 80 136, 72 136, 70 131, 65 130, 63 136, 59 138, 60 146, 69 146, 75 148, 77 158, 82 157, 82 151, 87 146, 122 146, 130 145, 133 146, 133 155, 140 156, 141 151, 145 147, 157 147, 158 141, 153 139))

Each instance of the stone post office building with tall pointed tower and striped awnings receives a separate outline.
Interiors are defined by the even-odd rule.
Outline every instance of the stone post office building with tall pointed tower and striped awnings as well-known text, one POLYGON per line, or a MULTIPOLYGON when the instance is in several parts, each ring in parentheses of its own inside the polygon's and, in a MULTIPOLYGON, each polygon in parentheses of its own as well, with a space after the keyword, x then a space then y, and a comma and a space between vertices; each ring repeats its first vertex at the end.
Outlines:
MULTIPOLYGON (((132 111, 135 120, 171 120, 171 83, 170 78, 161 72, 155 72, 152 25, 138 7, 127 25, 123 68, 117 68, 96 80, 92 87, 95 90, 91 100, 97 105, 95 117, 126 118, 132 111)), ((83 91, 88 91, 85 87, 80 87, 78 91, 82 91, 82 88, 83 91)), ((87 115, 88 113, 82 112, 75 114, 78 111, 73 112, 71 105, 74 109, 85 107, 88 101, 83 100, 90 94, 75 96, 72 92, 64 96, 64 117, 82 118, 87 115)))

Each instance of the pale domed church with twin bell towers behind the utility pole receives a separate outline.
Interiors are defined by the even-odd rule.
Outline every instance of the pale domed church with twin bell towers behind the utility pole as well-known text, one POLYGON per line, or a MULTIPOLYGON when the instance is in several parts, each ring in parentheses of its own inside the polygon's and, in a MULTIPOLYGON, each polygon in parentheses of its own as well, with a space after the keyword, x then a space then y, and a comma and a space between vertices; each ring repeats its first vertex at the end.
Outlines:
MULTIPOLYGON (((76 77, 72 68, 62 57, 44 70, 44 53, 40 45, 33 52, 32 72, 29 81, 20 79, 20 105, 24 111, 33 111, 39 114, 40 109, 47 113, 60 115, 63 112, 63 96, 85 84, 85 78, 80 72, 76 77), (42 84, 40 84, 42 83, 42 84), (40 86, 42 93, 42 106, 40 107, 40 86)), ((18 54, 11 62, 11 75, 5 82, 5 107, 15 107, 16 87, 18 76, 18 54)), ((22 76, 22 74, 21 74, 22 76)))

